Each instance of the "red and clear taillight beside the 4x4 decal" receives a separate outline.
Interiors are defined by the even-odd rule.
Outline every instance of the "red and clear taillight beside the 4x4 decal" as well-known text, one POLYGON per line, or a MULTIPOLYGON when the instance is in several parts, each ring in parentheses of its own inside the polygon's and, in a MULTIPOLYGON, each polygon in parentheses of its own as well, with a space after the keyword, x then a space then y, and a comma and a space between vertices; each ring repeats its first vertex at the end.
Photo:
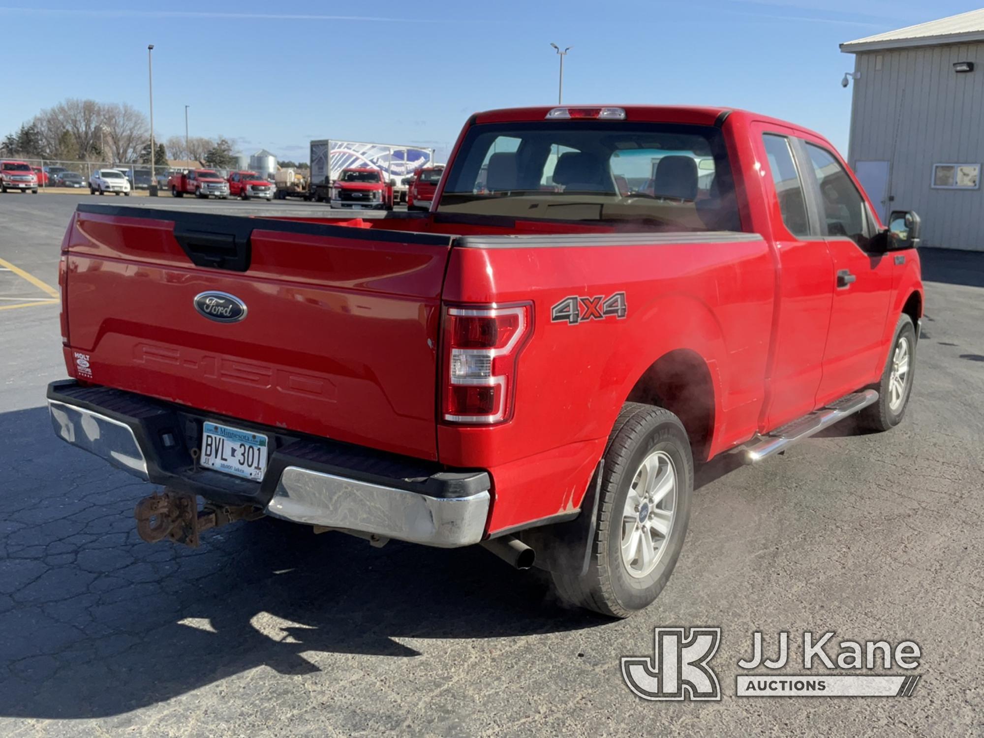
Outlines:
POLYGON ((513 416, 517 365, 532 333, 533 307, 447 307, 442 414, 453 423, 513 416))

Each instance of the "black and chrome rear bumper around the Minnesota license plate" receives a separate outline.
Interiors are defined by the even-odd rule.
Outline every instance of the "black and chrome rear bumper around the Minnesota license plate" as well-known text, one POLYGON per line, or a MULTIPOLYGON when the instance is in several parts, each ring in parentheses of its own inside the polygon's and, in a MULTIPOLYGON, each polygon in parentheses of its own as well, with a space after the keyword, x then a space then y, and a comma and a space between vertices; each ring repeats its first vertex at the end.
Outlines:
POLYGON ((491 482, 485 471, 449 471, 71 380, 48 386, 48 407, 55 434, 64 441, 145 481, 209 502, 439 547, 477 543, 488 519, 491 482), (206 420, 270 438, 263 481, 196 462, 192 451, 201 448, 206 420))

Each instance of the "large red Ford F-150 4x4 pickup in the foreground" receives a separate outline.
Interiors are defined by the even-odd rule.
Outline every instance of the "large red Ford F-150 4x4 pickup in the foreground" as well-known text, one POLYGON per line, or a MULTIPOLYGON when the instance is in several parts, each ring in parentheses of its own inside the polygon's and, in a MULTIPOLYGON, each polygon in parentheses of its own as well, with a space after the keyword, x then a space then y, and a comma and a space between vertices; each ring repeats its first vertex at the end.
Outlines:
POLYGON ((815 133, 493 110, 434 200, 373 220, 78 207, 51 418, 164 487, 137 506, 145 539, 266 514, 480 543, 627 616, 676 563, 695 463, 902 419, 919 220, 883 227, 815 133))

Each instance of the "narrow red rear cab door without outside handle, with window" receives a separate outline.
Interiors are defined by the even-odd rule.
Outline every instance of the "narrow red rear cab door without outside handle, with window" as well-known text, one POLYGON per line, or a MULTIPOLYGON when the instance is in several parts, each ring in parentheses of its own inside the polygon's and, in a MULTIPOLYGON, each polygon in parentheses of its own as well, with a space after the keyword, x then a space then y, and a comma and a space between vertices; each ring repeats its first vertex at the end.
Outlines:
POLYGON ((760 425, 775 428, 816 406, 830 323, 833 263, 798 157, 795 132, 771 123, 752 127, 771 239, 776 301, 766 402, 760 425))

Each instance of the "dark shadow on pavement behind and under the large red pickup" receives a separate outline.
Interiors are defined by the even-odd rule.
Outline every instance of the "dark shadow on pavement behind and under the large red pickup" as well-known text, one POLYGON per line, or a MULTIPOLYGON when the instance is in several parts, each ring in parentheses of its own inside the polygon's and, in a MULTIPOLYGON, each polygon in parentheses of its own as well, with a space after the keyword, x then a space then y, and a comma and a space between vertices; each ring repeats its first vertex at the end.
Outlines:
POLYGON ((364 541, 264 520, 199 549, 137 535, 151 490, 55 441, 42 407, 0 414, 0 715, 81 718, 324 654, 413 657, 395 639, 484 639, 605 621, 479 548, 364 541))

